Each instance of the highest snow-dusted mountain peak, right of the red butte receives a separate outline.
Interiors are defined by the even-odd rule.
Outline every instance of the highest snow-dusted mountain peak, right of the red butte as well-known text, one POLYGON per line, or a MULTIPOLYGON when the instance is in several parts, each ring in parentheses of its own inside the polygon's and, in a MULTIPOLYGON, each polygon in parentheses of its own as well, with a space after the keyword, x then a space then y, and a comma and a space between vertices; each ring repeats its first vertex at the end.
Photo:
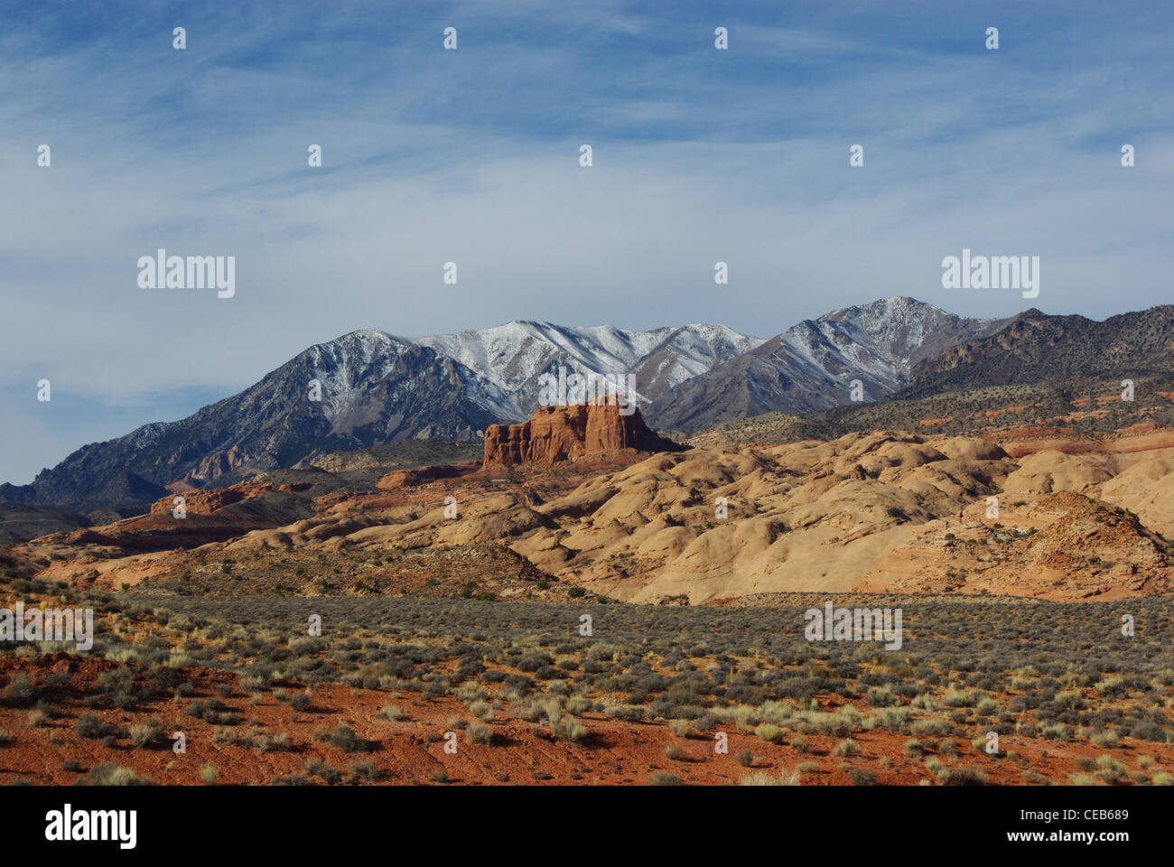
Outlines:
POLYGON ((672 389, 646 414, 661 428, 702 428, 762 412, 808 412, 876 401, 910 383, 913 365, 1006 320, 954 316, 898 296, 804 320, 750 351, 672 389))

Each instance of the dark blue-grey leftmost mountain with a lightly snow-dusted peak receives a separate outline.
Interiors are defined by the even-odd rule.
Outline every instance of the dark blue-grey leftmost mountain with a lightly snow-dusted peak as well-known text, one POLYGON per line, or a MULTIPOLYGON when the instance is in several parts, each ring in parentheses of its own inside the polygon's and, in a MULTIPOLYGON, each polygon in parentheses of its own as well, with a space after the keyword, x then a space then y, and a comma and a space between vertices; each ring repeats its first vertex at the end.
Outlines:
POLYGON ((376 443, 475 441, 501 399, 492 383, 427 347, 355 331, 180 422, 79 449, 32 485, 0 486, 0 498, 117 509, 376 443))

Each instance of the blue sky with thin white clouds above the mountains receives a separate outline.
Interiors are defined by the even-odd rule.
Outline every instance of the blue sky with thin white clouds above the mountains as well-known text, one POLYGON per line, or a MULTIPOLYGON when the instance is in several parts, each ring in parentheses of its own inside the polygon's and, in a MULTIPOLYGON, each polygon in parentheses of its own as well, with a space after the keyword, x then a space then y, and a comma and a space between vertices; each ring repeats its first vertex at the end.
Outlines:
POLYGON ((1170 301, 1163 4, 11 6, 0 480, 355 328, 1170 301), (235 255, 236 297, 140 289, 158 247, 235 255), (1040 256, 1039 298, 943 289, 963 247, 1040 256))

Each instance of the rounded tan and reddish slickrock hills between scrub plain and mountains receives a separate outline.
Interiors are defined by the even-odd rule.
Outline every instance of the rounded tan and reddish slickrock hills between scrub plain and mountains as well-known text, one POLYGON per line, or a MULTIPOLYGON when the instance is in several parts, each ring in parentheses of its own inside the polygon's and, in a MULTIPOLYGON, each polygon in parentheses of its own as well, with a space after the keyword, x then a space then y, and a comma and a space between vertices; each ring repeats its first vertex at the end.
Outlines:
POLYGON ((447 574, 436 558, 466 563, 461 580, 478 582, 492 550, 517 557, 506 569, 524 583, 641 603, 861 590, 1054 600, 1174 591, 1169 430, 880 431, 398 470, 362 490, 321 470, 298 472, 309 475, 194 496, 182 520, 164 500, 16 553, 53 580, 201 593, 313 594, 322 583, 427 593, 430 576, 447 574))

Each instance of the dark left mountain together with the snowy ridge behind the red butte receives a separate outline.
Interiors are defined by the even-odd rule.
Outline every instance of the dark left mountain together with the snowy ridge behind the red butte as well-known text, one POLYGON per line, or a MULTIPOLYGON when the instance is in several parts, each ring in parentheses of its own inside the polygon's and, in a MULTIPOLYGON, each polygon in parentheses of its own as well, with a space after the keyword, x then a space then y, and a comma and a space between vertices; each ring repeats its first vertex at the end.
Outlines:
MULTIPOLYGON (((83 446, 31 485, 0 485, 0 499, 110 509, 331 451, 406 438, 475 442, 488 424, 529 417, 539 375, 556 375, 560 364, 622 376, 648 362, 649 388, 662 388, 760 342, 722 325, 627 331, 511 322, 419 340, 351 331, 188 418, 83 446)), ((643 394, 645 381, 636 382, 643 394)))

